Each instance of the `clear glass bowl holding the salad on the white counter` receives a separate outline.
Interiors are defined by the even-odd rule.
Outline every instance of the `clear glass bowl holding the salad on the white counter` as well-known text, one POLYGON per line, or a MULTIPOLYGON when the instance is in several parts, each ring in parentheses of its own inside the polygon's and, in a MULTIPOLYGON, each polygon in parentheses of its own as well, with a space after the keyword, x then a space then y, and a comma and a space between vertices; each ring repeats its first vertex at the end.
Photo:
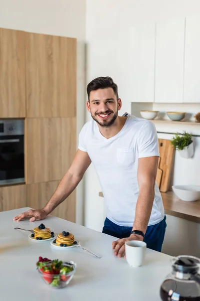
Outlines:
MULTIPOLYGON (((46 265, 50 265, 50 262, 46 265)), ((65 272, 65 273, 59 273, 59 274, 49 274, 43 272, 40 268, 38 268, 38 272, 40 277, 43 279, 43 281, 50 287, 53 288, 63 288, 68 285, 68 283, 71 281, 75 270, 76 270, 76 263, 73 261, 69 262, 63 262, 64 267, 73 268, 72 271, 65 272)))

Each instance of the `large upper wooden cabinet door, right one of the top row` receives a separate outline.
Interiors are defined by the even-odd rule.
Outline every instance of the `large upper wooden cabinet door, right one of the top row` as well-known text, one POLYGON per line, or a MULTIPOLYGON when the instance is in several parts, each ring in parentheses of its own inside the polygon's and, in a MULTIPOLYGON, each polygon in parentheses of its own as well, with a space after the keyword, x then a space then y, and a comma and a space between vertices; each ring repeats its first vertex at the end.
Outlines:
POLYGON ((76 39, 26 33, 26 117, 76 116, 76 39))

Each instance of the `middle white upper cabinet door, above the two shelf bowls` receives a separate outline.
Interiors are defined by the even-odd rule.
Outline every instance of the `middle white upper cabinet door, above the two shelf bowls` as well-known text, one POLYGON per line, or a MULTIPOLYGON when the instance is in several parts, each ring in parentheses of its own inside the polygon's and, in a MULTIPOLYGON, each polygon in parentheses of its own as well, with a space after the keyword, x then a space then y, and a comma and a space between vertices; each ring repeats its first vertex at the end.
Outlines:
POLYGON ((156 24, 155 102, 183 101, 185 19, 156 24))

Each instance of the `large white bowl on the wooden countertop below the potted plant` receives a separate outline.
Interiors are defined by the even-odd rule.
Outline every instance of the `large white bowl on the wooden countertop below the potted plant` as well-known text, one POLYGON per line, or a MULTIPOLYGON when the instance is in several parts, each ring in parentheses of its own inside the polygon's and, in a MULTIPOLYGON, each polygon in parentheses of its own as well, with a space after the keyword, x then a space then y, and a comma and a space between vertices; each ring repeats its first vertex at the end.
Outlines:
POLYGON ((172 190, 182 201, 193 202, 200 200, 200 186, 198 185, 174 185, 172 190))

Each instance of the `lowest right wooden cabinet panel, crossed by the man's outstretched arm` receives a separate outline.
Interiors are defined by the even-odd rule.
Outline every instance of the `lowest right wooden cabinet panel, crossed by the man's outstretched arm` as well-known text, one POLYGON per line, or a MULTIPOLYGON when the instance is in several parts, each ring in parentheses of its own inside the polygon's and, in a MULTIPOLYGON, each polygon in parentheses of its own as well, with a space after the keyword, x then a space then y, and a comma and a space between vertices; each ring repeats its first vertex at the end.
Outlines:
MULTIPOLYGON (((28 184, 27 206, 34 209, 41 209, 53 195, 58 184, 59 181, 28 184)), ((55 208, 51 215, 75 222, 75 191, 55 208)))

